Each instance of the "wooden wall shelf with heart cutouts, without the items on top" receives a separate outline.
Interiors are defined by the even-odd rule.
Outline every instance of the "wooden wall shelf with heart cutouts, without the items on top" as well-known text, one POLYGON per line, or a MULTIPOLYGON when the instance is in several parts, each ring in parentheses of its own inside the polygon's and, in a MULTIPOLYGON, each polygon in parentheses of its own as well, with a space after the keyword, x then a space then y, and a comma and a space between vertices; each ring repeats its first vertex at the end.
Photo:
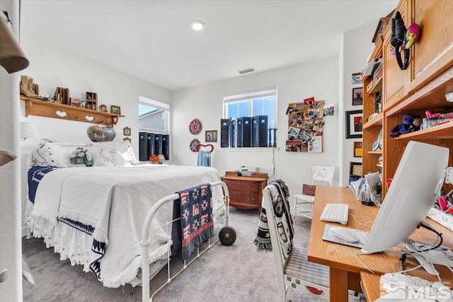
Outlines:
POLYGON ((124 115, 115 115, 108 112, 37 100, 35 98, 26 98, 25 96, 21 96, 21 100, 25 101, 25 117, 28 117, 28 115, 38 115, 40 117, 52 117, 59 120, 106 124, 108 126, 117 124, 118 117, 124 117, 124 115))

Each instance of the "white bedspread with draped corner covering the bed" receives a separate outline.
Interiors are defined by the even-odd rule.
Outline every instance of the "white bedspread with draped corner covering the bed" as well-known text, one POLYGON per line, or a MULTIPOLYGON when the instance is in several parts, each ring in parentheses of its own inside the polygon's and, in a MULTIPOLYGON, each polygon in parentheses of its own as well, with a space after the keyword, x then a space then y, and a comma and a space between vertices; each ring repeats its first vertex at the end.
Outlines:
MULTIPOLYGON (((219 173, 210 167, 137 165, 62 168, 48 173, 41 180, 32 216, 55 226, 57 236, 48 238, 58 242, 47 244, 58 247, 56 250, 59 251, 87 249, 78 248, 81 243, 74 242, 76 236, 61 238, 61 233, 67 232, 68 226, 57 222, 57 217, 93 226, 93 238, 107 245, 105 255, 99 260, 100 280, 104 286, 117 287, 137 275, 141 262, 139 243, 142 223, 151 205, 179 190, 218 180, 219 173)), ((220 187, 213 189, 213 200, 222 199, 220 187)), ((151 228, 171 219, 172 207, 171 202, 166 204, 161 214, 156 215, 151 228)), ((166 241, 166 232, 161 231, 154 236, 151 245, 157 247, 166 241)), ((70 259, 72 256, 67 255, 70 259)), ((88 261, 75 260, 76 257, 74 255, 76 263, 88 261)), ((93 261, 99 256, 91 252, 89 257, 93 261)))

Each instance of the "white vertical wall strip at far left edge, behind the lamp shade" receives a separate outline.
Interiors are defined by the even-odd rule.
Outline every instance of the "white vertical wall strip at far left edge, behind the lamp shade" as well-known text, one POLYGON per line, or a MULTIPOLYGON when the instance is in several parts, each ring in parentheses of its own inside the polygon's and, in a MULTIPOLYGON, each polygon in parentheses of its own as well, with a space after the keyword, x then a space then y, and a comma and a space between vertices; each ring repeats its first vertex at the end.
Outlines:
MULTIPOLYGON (((0 1, 13 32, 19 28, 18 1, 0 1)), ((4 41, 2 41, 3 43, 4 41)), ((27 53, 25 52, 25 55, 27 53)), ((0 150, 19 154, 19 76, 0 66, 0 150)), ((20 159, 0 167, 0 272, 8 269, 0 284, 0 301, 22 301, 21 271, 21 178, 20 159)))

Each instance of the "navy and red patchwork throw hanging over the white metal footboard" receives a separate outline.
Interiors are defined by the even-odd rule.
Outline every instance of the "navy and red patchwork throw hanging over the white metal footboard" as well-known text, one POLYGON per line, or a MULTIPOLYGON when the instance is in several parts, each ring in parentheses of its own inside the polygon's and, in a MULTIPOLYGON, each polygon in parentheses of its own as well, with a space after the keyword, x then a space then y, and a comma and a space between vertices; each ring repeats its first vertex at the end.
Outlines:
POLYGON ((212 191, 209 183, 178 192, 180 199, 173 202, 172 253, 182 248, 187 260, 195 248, 214 236, 212 220, 212 191))

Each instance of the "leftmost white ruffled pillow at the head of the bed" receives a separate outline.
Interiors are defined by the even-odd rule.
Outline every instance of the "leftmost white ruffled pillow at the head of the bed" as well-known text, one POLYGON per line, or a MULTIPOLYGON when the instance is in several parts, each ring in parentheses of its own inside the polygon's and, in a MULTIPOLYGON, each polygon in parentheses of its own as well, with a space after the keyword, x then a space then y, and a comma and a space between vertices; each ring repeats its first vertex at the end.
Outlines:
POLYGON ((39 165, 50 165, 52 167, 66 168, 71 166, 70 157, 76 151, 76 146, 61 146, 55 143, 45 143, 33 151, 39 165))

